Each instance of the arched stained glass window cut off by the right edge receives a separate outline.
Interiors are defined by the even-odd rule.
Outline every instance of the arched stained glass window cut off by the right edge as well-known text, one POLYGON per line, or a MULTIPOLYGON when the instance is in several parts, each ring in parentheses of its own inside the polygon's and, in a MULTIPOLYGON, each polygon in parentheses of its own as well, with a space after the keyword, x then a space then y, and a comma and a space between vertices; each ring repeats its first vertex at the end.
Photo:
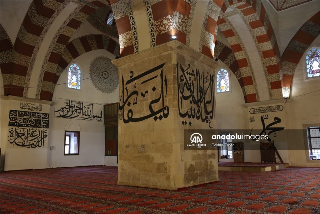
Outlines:
POLYGON ((320 76, 320 49, 312 48, 307 56, 307 77, 317 77, 320 76))

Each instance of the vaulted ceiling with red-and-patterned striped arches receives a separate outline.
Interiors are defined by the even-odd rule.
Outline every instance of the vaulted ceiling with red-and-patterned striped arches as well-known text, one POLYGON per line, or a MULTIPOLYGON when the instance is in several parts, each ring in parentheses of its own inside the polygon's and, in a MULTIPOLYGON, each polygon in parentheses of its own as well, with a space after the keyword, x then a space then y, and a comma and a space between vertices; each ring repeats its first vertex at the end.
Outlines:
POLYGON ((61 73, 76 57, 96 49, 124 57, 175 35, 223 61, 245 102, 289 97, 295 67, 320 34, 320 5, 292 2, 1 1, 3 93, 51 100, 61 73), (110 11, 113 25, 105 23, 110 11))

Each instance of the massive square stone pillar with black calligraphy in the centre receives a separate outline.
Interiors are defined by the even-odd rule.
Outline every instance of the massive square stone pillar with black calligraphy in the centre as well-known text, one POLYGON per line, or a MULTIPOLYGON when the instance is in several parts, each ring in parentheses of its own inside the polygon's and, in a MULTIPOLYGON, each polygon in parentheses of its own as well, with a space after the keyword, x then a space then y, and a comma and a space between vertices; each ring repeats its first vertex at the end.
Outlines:
POLYGON ((112 63, 119 70, 117 184, 175 190, 217 181, 217 150, 184 150, 184 130, 216 128, 218 64, 176 40, 112 63))

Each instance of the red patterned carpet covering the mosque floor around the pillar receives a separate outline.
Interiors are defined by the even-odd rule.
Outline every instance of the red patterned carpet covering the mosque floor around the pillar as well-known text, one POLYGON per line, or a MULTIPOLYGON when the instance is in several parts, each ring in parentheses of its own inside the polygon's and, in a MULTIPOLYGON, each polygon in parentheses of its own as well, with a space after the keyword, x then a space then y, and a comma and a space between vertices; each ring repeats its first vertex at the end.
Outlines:
POLYGON ((219 171, 220 182, 177 191, 116 185, 117 167, 24 170, 0 174, 8 213, 319 214, 320 168, 219 171))

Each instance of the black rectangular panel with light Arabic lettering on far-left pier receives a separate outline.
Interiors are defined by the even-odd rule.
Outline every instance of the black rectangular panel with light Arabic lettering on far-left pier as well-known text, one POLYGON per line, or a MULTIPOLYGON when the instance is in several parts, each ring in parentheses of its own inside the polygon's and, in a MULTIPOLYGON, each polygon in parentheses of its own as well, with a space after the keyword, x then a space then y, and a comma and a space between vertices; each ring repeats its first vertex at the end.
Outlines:
POLYGON ((49 114, 10 110, 9 126, 30 127, 30 128, 49 128, 49 114))

